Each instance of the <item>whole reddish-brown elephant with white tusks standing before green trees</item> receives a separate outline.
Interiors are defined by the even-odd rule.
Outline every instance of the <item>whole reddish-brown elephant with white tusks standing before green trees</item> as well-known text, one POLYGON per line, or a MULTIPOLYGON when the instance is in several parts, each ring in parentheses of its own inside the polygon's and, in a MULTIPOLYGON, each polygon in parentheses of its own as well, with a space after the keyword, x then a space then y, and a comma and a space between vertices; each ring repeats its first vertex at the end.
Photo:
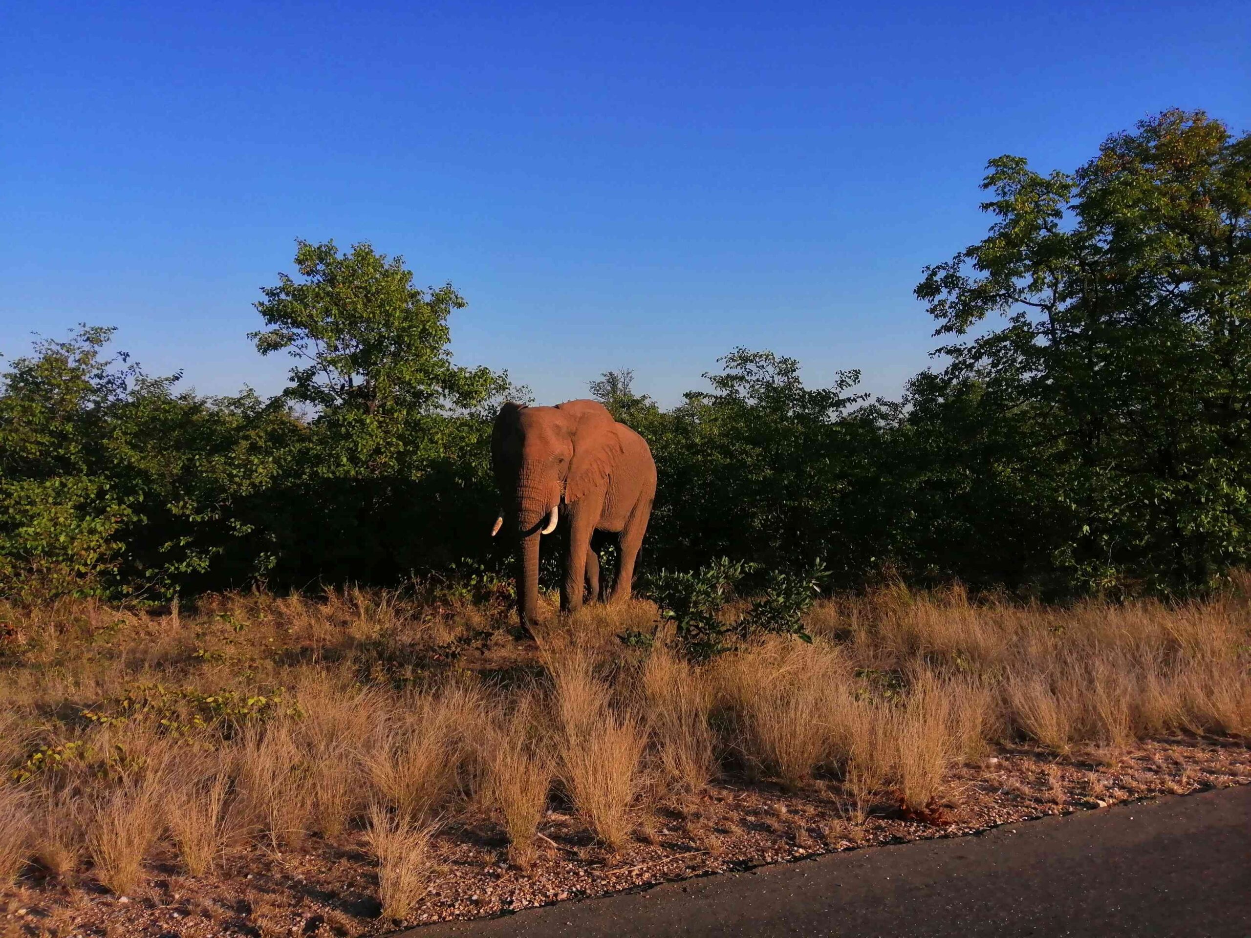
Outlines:
POLYGON ((563 522, 564 579, 560 609, 575 612, 583 587, 599 598, 599 559, 590 548, 594 532, 620 540, 620 567, 609 602, 629 599, 634 562, 656 499, 656 461, 647 440, 618 423, 594 400, 555 406, 509 401, 490 434, 492 466, 503 507, 492 537, 505 517, 520 540, 517 598, 522 630, 538 610, 539 538, 563 522))

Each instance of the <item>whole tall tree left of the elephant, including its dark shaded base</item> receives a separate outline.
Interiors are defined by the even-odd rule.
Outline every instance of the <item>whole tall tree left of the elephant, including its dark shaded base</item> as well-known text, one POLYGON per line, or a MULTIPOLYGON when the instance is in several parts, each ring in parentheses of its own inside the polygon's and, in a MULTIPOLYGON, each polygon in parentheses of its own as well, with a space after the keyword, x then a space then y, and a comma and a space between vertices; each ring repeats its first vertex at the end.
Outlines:
POLYGON ((507 374, 453 363, 450 284, 422 290, 369 244, 298 241, 251 334, 298 359, 284 399, 308 409, 303 470, 273 519, 280 579, 387 580, 482 550, 493 410, 507 374), (315 507, 310 513, 309 507, 315 507))

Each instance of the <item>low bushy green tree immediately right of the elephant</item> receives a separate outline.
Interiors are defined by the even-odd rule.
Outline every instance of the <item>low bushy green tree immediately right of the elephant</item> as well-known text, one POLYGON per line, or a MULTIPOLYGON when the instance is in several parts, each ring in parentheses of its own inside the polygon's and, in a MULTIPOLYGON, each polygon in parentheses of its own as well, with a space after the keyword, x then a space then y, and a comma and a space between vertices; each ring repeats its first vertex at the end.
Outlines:
POLYGON ((864 513, 852 495, 873 484, 878 430, 854 411, 858 373, 811 389, 794 359, 736 349, 721 361, 711 391, 643 420, 661 475, 648 550, 678 569, 723 555, 783 567, 837 557, 838 574, 859 572, 864 513))

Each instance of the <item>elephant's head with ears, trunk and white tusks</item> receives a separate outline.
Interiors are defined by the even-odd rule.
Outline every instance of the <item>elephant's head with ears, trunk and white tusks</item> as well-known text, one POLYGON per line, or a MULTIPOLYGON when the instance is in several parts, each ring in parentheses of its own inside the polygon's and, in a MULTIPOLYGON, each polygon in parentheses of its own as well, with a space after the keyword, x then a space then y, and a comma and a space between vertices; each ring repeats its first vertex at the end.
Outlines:
POLYGON ((612 414, 593 400, 558 406, 509 401, 490 434, 503 505, 492 535, 510 523, 520 539, 517 597, 522 623, 538 610, 539 538, 555 530, 560 504, 602 490, 622 451, 612 414))

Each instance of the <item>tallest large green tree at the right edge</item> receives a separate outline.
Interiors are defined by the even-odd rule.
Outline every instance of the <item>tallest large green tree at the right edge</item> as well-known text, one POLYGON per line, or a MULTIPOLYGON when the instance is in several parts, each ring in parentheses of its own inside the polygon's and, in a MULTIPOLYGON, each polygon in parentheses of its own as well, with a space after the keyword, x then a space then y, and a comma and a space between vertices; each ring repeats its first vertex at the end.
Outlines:
POLYGON ((990 163, 988 236, 926 269, 945 380, 1036 425, 1095 588, 1210 584, 1251 554, 1251 136, 1165 111, 1077 173, 990 163))

